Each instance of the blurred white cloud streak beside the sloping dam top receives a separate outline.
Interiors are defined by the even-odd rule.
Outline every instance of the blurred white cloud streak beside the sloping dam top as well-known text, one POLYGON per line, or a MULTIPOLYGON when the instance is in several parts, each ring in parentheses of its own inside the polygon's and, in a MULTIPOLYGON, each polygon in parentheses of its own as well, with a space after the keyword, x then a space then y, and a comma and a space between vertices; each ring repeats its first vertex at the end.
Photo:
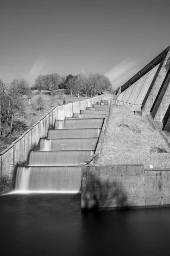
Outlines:
POLYGON ((138 71, 139 69, 136 61, 125 59, 109 70, 105 76, 111 80, 113 90, 116 90, 138 71))

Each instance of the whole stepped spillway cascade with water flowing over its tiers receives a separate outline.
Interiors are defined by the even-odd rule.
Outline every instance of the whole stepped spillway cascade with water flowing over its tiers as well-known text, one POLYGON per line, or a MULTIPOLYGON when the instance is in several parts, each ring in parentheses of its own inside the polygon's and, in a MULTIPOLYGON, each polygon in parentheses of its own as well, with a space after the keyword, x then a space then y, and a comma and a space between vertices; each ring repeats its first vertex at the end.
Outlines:
POLYGON ((28 165, 18 167, 17 191, 80 191, 81 163, 95 153, 109 105, 103 101, 92 107, 55 120, 54 130, 40 140, 40 150, 31 151, 28 165))

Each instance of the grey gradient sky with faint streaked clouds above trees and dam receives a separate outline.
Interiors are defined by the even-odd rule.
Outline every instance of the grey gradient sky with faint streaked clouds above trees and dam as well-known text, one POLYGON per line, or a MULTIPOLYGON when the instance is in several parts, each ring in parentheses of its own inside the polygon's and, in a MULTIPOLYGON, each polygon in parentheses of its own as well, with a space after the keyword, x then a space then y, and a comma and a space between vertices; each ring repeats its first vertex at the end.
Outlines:
POLYGON ((167 0, 1 0, 0 79, 81 71, 120 87, 170 45, 167 0))

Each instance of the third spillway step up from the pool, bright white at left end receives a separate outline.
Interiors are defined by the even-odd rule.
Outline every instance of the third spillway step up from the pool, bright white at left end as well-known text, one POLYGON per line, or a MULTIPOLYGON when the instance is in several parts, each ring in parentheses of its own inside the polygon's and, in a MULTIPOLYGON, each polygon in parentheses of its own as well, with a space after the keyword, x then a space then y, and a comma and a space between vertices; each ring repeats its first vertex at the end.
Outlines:
POLYGON ((98 138, 40 140, 40 151, 95 150, 98 138))

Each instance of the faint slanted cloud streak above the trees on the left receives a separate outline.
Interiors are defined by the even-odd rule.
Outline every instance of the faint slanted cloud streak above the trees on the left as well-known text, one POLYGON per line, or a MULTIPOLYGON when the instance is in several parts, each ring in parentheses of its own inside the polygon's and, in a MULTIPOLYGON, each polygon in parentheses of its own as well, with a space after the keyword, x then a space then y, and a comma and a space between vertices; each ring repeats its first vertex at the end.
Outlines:
POLYGON ((28 74, 28 80, 30 83, 33 83, 34 80, 41 74, 42 69, 47 63, 47 58, 39 56, 32 65, 30 72, 28 74))

